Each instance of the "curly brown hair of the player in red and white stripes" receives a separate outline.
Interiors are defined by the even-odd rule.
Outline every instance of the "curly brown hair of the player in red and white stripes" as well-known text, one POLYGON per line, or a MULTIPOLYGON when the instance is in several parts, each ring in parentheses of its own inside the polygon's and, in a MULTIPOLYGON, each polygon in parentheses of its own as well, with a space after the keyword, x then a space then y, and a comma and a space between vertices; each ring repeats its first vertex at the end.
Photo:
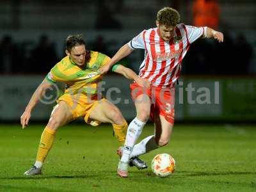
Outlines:
POLYGON ((173 8, 164 7, 157 12, 157 21, 166 27, 176 26, 180 21, 180 14, 173 8))

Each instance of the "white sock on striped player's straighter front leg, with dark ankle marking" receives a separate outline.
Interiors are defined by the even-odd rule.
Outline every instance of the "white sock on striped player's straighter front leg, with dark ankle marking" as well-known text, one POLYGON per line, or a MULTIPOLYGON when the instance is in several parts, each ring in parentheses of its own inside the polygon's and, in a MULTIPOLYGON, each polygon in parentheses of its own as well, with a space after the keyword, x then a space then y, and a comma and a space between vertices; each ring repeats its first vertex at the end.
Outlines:
POLYGON ((138 120, 138 118, 134 118, 129 124, 121 161, 128 163, 132 148, 134 147, 136 140, 140 137, 144 125, 145 123, 138 120))

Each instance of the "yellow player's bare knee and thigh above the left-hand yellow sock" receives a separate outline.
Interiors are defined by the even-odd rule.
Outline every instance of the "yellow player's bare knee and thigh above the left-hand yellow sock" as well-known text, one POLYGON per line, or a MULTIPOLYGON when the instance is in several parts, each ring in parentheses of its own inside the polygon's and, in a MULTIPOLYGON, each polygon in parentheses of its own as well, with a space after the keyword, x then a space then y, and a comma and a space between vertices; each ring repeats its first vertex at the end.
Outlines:
POLYGON ((52 110, 51 117, 47 124, 50 129, 58 129, 58 127, 67 124, 72 120, 72 113, 68 104, 61 100, 52 110))

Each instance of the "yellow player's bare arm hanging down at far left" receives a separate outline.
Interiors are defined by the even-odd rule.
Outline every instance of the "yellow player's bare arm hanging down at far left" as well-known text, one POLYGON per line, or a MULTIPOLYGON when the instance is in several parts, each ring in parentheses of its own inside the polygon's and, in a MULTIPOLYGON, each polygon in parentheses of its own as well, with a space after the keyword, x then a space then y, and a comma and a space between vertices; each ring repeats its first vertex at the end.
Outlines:
POLYGON ((22 129, 24 129, 29 122, 29 118, 31 116, 31 112, 33 108, 35 108, 36 104, 38 103, 39 99, 44 95, 47 88, 51 87, 51 83, 49 83, 46 79, 36 88, 35 93, 33 93, 31 99, 29 100, 28 106, 22 116, 20 116, 20 124, 22 125, 22 129))

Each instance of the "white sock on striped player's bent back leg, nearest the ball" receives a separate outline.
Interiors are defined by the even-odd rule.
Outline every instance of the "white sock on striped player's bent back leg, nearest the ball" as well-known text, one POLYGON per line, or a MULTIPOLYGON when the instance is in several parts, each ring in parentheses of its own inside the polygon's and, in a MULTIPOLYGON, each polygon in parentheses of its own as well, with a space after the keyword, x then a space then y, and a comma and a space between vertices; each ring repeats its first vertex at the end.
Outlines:
POLYGON ((148 136, 144 140, 140 141, 140 143, 134 145, 134 148, 132 149, 132 153, 130 157, 143 155, 156 148, 159 148, 159 146, 156 144, 155 136, 154 135, 148 136))

